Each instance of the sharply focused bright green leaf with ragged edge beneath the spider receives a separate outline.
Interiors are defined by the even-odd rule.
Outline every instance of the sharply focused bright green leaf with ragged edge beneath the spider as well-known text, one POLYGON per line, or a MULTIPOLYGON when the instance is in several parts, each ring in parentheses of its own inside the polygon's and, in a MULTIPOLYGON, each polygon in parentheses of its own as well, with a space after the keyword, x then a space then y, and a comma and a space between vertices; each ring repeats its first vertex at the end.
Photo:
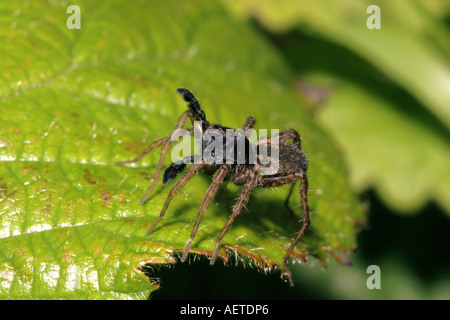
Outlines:
MULTIPOLYGON (((80 30, 67 29, 64 3, 0 5, 0 297, 142 299, 158 288, 142 267, 176 262, 211 176, 195 176, 147 237, 170 190, 158 184, 139 205, 158 150, 137 166, 114 163, 170 134, 186 110, 177 87, 195 92, 211 122, 238 128, 253 115, 257 129, 297 129, 314 210, 297 258, 326 263, 355 248, 364 214, 343 162, 252 28, 208 1, 78 5, 80 30)), ((239 191, 229 183, 215 197, 193 252, 211 253, 239 191)), ((221 257, 282 268, 300 227, 287 192, 253 192, 221 257)))

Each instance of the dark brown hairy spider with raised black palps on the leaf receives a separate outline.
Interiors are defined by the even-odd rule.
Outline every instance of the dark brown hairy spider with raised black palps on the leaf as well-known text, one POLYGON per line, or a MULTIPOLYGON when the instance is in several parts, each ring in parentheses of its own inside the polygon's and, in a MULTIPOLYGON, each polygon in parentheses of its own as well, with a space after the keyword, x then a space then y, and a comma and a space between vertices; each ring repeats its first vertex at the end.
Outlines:
MULTIPOLYGON (((205 132, 208 129, 216 129, 219 130, 223 135, 226 134, 226 130, 229 129, 227 127, 223 127, 220 124, 210 124, 209 121, 206 119, 205 112, 200 107, 200 104, 197 100, 197 98, 194 96, 194 94, 189 91, 188 89, 184 88, 178 88, 177 93, 182 96, 184 101, 188 103, 188 110, 185 111, 180 118, 178 119, 177 125, 175 127, 176 129, 181 129, 185 125, 187 119, 190 119, 192 122, 192 125, 199 124, 201 126, 202 132, 205 132)), ((242 130, 246 131, 249 129, 253 129, 255 125, 255 118, 249 117, 245 121, 242 130)), ((175 131, 174 130, 174 131, 175 131)), ((189 130, 189 134, 193 134, 193 130, 189 130)), ((150 152, 152 149, 162 146, 159 162, 156 168, 156 172, 154 175, 153 182, 142 198, 140 204, 143 205, 152 192, 153 188, 155 187, 159 176, 161 172, 161 168, 163 166, 163 161, 166 153, 168 152, 172 140, 170 139, 171 136, 167 136, 161 139, 158 139, 154 141, 152 144, 150 144, 146 149, 144 149, 135 159, 130 161, 121 161, 116 162, 116 165, 125 165, 130 163, 136 163, 138 162, 144 155, 146 155, 148 152, 150 152)), ((185 175, 176 182, 176 184, 172 187, 170 190, 166 201, 163 205, 163 208, 160 212, 160 215, 158 218, 154 221, 150 229, 147 231, 147 235, 150 235, 152 231, 155 229, 156 225, 161 221, 162 217, 164 216, 165 212, 167 211, 167 208, 170 205, 170 202, 172 201, 173 197, 182 189, 182 187, 195 175, 199 172, 200 169, 203 169, 203 171, 207 174, 214 174, 214 177, 212 179, 212 182, 208 188, 208 191, 206 192, 205 197, 202 200, 202 203, 200 205, 200 210, 197 216, 197 219, 195 221, 194 227, 192 229, 191 236, 184 248, 183 255, 181 257, 181 261, 184 262, 187 258, 187 255, 189 253, 189 250, 191 248, 192 242, 195 238, 195 235, 198 231, 198 227, 200 225, 200 221, 203 217, 203 213, 208 208, 209 203, 211 202, 212 198, 214 197, 214 194, 217 192, 219 185, 227 180, 231 179, 233 183, 236 185, 244 185, 243 191, 240 194, 239 199, 235 203, 233 207, 233 211, 228 219, 228 222, 222 229, 219 237, 217 238, 214 250, 211 255, 210 264, 214 264, 217 254, 219 251, 219 246, 221 244, 222 238, 224 237, 227 230, 230 228, 233 221, 237 218, 237 216, 240 214, 242 208, 247 203, 250 193, 254 188, 272 188, 282 185, 290 184, 290 190, 287 195, 287 198, 284 202, 286 207, 288 208, 289 212, 293 215, 294 212, 289 207, 288 202, 289 199, 293 193, 294 187, 296 185, 296 182, 298 180, 301 180, 300 183, 300 198, 301 198, 301 207, 302 207, 302 226, 297 233, 295 239, 292 241, 291 245, 286 251, 286 254, 283 258, 283 264, 285 269, 285 274, 288 277, 288 280, 291 285, 293 285, 292 282, 292 276, 288 268, 288 258, 290 257, 292 251, 294 250, 296 244, 298 241, 303 237, 305 231, 310 225, 310 210, 308 207, 308 197, 307 197, 307 191, 308 191, 308 179, 306 176, 306 171, 308 169, 308 161, 305 156, 305 153, 301 149, 301 141, 300 136, 297 133, 297 131, 290 129, 283 131, 278 134, 279 144, 278 144, 278 172, 276 174, 271 175, 262 175, 261 171, 264 168, 264 165, 261 164, 260 156, 258 154, 260 148, 262 146, 265 146, 270 150, 273 151, 271 138, 263 138, 258 141, 256 141, 256 157, 258 161, 256 163, 251 163, 249 161, 248 157, 245 157, 245 161, 243 164, 239 164, 236 160, 237 155, 236 153, 233 154, 226 154, 226 152, 223 152, 224 158, 228 156, 232 158, 230 162, 223 161, 222 163, 212 163, 208 164, 204 159, 202 158, 201 161, 194 161, 194 157, 188 157, 187 159, 183 159, 182 161, 177 161, 172 163, 169 167, 167 167, 163 174, 162 183, 163 185, 166 185, 169 181, 174 180, 178 173, 181 172, 187 164, 193 163, 189 170, 185 173, 185 175)), ((225 139, 224 139, 225 140, 225 139)), ((202 142, 202 150, 204 150, 209 144, 211 143, 211 140, 206 140, 202 142)), ((249 138, 245 136, 245 146, 246 150, 248 151, 248 146, 250 144, 249 138)))

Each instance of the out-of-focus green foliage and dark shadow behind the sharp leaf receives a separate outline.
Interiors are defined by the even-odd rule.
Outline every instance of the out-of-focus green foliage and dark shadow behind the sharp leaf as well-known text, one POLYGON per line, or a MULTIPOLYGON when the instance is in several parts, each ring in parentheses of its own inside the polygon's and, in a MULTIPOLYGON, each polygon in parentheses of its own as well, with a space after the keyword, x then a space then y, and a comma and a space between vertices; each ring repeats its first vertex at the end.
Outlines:
POLYGON ((152 272, 153 299, 450 299, 450 3, 222 1, 270 41, 340 148, 368 212, 352 267, 279 274, 206 259, 152 272), (380 9, 380 29, 366 21, 380 9), (381 289, 369 290, 369 265, 381 289), (201 281, 198 281, 201 279, 201 281))

